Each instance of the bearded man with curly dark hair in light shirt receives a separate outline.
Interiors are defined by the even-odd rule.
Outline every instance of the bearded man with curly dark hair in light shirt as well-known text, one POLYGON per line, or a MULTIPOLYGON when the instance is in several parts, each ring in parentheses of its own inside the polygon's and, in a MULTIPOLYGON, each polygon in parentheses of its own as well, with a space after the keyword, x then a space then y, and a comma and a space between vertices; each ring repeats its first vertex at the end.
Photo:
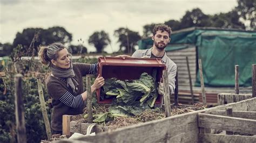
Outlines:
MULTIPOLYGON (((154 41, 153 47, 150 49, 138 49, 132 54, 133 58, 160 58, 161 62, 166 65, 168 71, 168 80, 170 87, 170 94, 174 94, 175 89, 175 76, 177 65, 174 63, 165 52, 165 47, 171 41, 171 27, 160 24, 156 25, 153 29, 152 40, 154 41)), ((159 84, 158 93, 163 95, 163 83, 159 84)))

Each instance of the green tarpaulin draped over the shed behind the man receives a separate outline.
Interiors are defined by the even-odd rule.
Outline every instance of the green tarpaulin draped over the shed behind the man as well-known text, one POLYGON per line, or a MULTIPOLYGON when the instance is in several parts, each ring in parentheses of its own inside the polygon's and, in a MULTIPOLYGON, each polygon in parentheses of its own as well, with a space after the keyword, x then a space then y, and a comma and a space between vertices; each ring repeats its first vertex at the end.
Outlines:
MULTIPOLYGON (((138 44, 139 49, 145 49, 150 48, 153 41, 148 38, 140 40, 138 44)), ((235 65, 239 65, 239 85, 252 85, 252 64, 256 64, 256 31, 188 28, 173 32, 166 51, 187 48, 186 44, 197 47, 205 86, 234 87, 235 65)), ((199 84, 200 77, 197 72, 196 85, 199 84)))

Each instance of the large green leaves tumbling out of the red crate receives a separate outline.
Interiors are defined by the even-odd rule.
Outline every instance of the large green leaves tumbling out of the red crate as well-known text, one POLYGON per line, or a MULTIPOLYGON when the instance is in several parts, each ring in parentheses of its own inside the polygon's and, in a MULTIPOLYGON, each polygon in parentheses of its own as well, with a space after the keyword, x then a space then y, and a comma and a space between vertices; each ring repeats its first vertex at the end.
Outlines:
MULTIPOLYGON (((142 73, 137 80, 117 80, 109 78, 105 80, 100 89, 100 100, 112 98, 112 104, 108 112, 94 115, 94 122, 105 124, 114 117, 138 116, 146 109, 153 109, 158 97, 156 72, 153 77, 142 73)), ((87 115, 85 116, 85 118, 87 115)))

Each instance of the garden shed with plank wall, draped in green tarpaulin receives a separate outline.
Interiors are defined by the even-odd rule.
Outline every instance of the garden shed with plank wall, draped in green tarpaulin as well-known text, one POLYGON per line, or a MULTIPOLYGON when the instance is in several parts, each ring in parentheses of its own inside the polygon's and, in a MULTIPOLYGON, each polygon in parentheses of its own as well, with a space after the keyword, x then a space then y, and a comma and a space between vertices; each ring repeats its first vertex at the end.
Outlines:
MULTIPOLYGON (((139 49, 150 48, 151 38, 138 42, 139 49)), ((166 54, 178 67, 179 101, 191 101, 186 56, 190 65, 196 101, 200 97, 198 59, 202 61, 208 103, 217 103, 220 92, 234 92, 234 66, 239 65, 240 92, 251 92, 252 64, 256 62, 256 31, 192 27, 171 34, 166 54)))

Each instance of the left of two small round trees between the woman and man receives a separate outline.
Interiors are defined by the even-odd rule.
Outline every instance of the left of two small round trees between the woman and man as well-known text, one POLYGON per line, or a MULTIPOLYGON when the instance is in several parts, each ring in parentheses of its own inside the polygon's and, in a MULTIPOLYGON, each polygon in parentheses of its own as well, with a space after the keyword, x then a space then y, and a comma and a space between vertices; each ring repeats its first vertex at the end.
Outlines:
POLYGON ((90 45, 94 45, 97 53, 102 53, 103 49, 110 44, 109 34, 105 31, 94 32, 88 40, 90 45))

